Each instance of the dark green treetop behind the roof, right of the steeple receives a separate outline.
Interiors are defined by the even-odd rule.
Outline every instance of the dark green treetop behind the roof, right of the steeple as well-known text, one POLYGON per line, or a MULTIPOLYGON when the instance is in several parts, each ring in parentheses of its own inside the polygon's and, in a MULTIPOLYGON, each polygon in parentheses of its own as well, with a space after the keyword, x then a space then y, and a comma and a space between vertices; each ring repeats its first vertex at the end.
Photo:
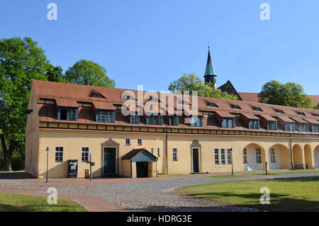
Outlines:
POLYGON ((313 108, 313 100, 303 93, 303 86, 293 82, 269 81, 258 94, 259 102, 296 108, 313 108))

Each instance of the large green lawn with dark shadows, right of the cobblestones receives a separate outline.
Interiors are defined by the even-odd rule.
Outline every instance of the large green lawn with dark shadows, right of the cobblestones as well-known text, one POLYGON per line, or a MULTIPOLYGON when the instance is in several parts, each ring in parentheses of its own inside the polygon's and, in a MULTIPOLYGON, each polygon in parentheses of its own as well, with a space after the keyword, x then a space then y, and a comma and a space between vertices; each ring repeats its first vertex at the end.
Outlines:
POLYGON ((178 188, 177 193, 269 211, 319 211, 319 176, 229 181, 178 188), (270 189, 270 204, 260 204, 260 188, 270 189))

